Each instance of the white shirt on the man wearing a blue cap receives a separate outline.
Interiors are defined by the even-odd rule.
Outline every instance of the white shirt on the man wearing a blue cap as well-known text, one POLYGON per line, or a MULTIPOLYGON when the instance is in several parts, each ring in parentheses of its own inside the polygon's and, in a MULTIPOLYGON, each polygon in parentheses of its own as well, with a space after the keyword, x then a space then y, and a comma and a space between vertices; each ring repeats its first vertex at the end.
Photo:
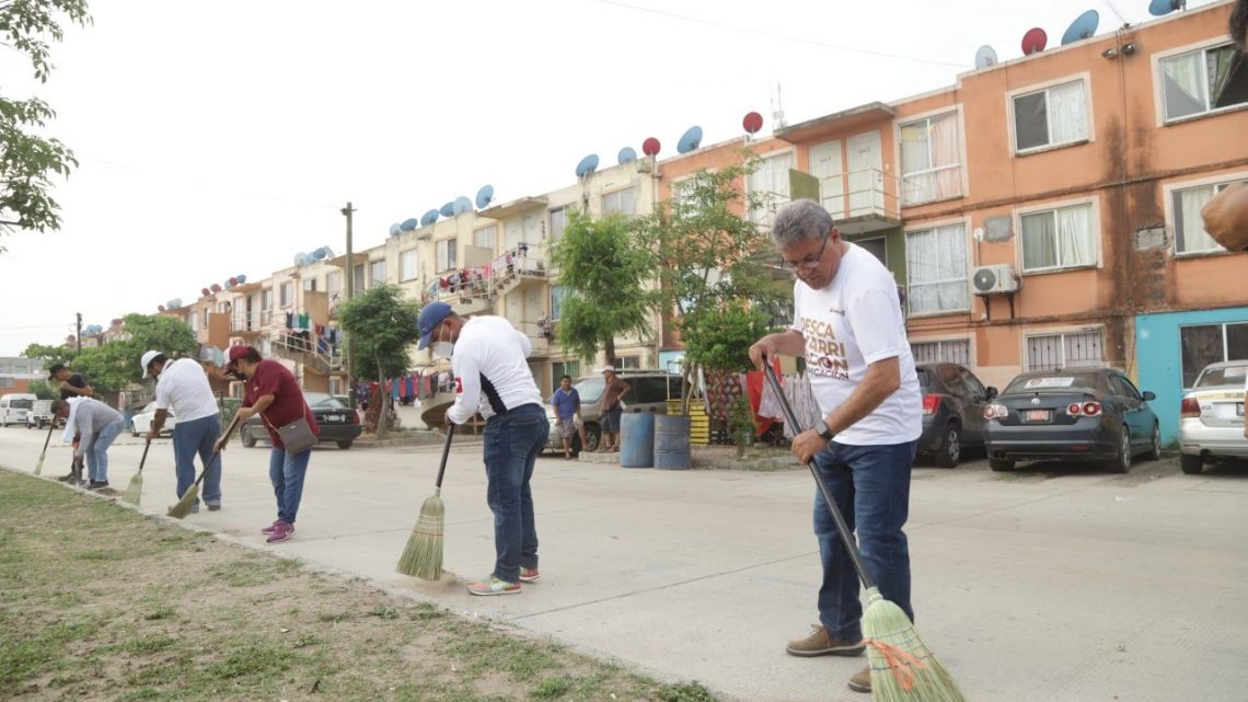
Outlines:
POLYGON ((503 317, 472 317, 459 331, 451 355, 451 371, 456 376, 456 403, 447 410, 447 420, 462 425, 480 412, 494 416, 489 391, 483 378, 497 393, 503 407, 540 405, 542 393, 533 382, 533 371, 525 361, 533 345, 529 337, 515 331, 503 317))

